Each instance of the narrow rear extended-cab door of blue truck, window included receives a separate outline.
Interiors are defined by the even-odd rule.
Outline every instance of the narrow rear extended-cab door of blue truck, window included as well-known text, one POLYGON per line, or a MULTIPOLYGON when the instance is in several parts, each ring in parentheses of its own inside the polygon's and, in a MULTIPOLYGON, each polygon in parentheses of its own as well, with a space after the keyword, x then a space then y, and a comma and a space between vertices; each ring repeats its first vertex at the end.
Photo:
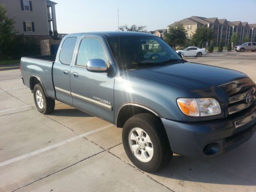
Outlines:
POLYGON ((72 105, 70 90, 70 68, 74 55, 77 37, 63 39, 53 65, 53 83, 57 100, 72 105))

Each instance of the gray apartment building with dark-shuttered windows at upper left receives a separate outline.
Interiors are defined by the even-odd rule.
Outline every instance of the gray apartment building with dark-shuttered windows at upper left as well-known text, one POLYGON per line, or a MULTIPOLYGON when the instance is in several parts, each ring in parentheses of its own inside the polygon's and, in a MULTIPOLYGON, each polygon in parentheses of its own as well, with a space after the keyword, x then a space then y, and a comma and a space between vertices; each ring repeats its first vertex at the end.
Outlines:
POLYGON ((0 0, 7 16, 14 18, 17 35, 49 39, 57 30, 56 3, 49 0, 0 0))

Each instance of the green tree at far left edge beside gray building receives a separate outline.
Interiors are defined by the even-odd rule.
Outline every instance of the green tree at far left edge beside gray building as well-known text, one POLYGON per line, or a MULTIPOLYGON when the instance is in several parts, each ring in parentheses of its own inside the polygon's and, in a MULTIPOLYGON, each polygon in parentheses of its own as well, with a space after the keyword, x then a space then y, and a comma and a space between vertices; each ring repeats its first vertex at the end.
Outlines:
POLYGON ((6 9, 0 4, 0 54, 5 56, 9 55, 12 43, 15 40, 14 23, 14 19, 6 16, 6 9))

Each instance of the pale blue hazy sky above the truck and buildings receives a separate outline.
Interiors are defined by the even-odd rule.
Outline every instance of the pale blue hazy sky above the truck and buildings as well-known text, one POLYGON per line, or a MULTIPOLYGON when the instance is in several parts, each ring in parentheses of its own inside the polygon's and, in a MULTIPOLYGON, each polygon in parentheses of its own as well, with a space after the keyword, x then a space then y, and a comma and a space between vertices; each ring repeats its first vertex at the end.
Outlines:
POLYGON ((165 29, 190 16, 256 23, 256 0, 52 0, 57 3, 58 33, 116 31, 119 25, 165 29))

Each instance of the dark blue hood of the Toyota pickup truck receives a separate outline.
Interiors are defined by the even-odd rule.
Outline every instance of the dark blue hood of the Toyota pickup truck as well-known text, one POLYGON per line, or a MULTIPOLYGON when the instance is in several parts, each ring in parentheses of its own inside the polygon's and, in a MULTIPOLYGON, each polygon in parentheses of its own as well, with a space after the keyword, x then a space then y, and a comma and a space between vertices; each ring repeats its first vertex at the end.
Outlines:
POLYGON ((191 62, 128 70, 127 73, 171 84, 187 91, 205 90, 212 86, 220 86, 247 77, 246 74, 239 71, 191 62))

